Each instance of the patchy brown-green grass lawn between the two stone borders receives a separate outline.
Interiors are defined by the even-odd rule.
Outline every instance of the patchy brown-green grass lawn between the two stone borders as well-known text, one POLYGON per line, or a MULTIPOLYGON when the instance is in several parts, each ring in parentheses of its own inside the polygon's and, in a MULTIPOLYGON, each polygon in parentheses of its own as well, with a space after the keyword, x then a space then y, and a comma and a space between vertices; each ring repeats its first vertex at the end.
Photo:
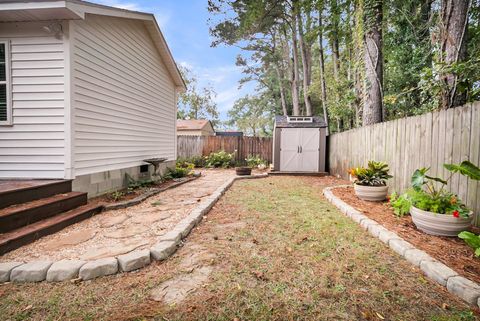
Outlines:
POLYGON ((166 262, 89 282, 2 285, 0 319, 476 320, 330 205, 323 182, 239 181, 166 262), (152 300, 198 271, 206 282, 152 300))

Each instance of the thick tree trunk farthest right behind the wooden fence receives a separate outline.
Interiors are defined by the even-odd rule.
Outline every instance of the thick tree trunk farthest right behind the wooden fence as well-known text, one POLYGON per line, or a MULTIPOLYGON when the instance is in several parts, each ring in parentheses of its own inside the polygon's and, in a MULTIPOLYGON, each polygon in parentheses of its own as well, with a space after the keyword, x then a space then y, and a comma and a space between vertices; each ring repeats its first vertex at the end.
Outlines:
MULTIPOLYGON (((443 0, 441 11, 441 61, 447 66, 467 58, 467 23, 469 0, 443 0)), ((441 93, 443 109, 461 106, 467 101, 465 91, 457 87, 457 75, 444 74, 444 89, 441 93)))

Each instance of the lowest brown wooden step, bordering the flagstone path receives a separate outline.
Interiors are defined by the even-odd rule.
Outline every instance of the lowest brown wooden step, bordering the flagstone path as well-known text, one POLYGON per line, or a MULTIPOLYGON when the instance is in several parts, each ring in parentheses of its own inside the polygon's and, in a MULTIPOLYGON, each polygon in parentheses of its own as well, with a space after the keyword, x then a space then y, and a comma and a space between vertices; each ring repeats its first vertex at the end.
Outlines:
POLYGON ((65 227, 83 221, 100 213, 102 205, 87 204, 74 210, 58 214, 14 231, 0 234, 0 255, 13 251, 23 245, 32 243, 39 238, 58 232, 65 227))

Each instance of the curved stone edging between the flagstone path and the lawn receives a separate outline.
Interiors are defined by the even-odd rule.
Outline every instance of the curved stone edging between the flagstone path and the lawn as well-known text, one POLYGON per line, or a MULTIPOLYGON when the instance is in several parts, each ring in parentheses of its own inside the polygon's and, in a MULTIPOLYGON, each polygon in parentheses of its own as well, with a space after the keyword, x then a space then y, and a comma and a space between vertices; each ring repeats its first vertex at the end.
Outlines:
POLYGON ((100 276, 137 270, 149 265, 152 260, 165 260, 175 253, 182 239, 202 220, 203 215, 210 211, 213 205, 215 205, 236 180, 265 177, 268 177, 268 173, 232 177, 220 185, 210 196, 200 202, 200 204, 193 209, 187 217, 178 222, 172 230, 160 236, 158 243, 150 247, 150 249, 134 250, 116 257, 106 257, 94 261, 62 259, 56 262, 0 262, 0 282, 41 282, 44 280, 47 282, 67 280, 86 281, 100 276))

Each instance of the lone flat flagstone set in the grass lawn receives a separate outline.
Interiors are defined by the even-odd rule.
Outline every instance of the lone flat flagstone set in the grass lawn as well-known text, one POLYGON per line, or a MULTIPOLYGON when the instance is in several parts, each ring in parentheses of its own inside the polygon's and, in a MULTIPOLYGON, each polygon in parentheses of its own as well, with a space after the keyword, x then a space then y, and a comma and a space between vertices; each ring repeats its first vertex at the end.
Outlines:
POLYGON ((208 280, 212 268, 204 266, 189 274, 179 275, 167 282, 160 284, 150 293, 154 301, 163 301, 166 304, 178 304, 182 302, 189 293, 195 291, 208 280))

